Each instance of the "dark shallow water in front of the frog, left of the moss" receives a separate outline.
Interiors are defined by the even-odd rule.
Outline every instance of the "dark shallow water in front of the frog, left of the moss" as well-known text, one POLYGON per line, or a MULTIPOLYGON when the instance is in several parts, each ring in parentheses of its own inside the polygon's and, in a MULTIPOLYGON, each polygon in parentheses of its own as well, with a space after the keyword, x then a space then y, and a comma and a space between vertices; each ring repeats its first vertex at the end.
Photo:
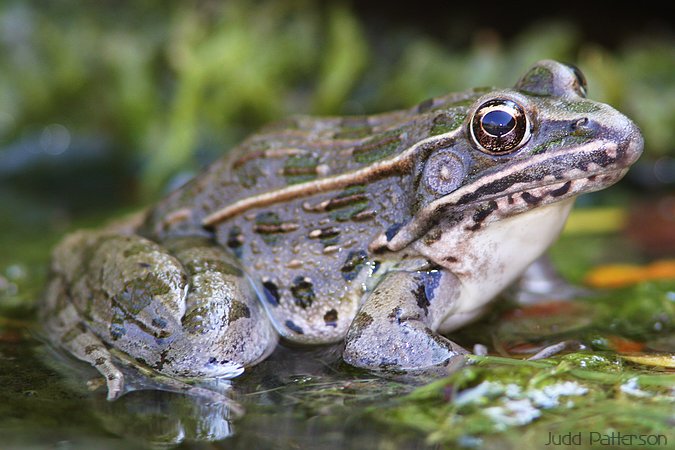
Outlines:
POLYGON ((104 387, 87 389, 86 380, 97 379, 93 369, 54 352, 33 333, 5 329, 0 342, 2 448, 84 449, 94 442, 96 448, 202 448, 206 443, 215 448, 372 448, 385 442, 414 448, 423 443, 421 435, 397 435, 364 414, 415 383, 346 368, 337 347, 280 346, 229 386, 221 383, 236 409, 243 409, 240 417, 223 402, 159 390, 137 390, 110 402, 104 387))

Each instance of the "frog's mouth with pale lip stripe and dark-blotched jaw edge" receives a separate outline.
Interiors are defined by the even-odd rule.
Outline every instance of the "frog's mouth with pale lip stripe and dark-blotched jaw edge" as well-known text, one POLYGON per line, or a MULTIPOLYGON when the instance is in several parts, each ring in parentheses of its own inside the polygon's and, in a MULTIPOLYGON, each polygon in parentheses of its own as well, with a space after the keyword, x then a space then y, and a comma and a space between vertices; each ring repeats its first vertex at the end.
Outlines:
POLYGON ((481 205, 490 204, 489 214, 507 205, 502 215, 508 216, 604 189, 619 181, 640 156, 642 138, 639 133, 635 136, 624 145, 603 140, 534 155, 511 165, 508 173, 496 168, 431 202, 390 240, 379 238, 372 246, 401 250, 451 211, 478 211, 481 205))

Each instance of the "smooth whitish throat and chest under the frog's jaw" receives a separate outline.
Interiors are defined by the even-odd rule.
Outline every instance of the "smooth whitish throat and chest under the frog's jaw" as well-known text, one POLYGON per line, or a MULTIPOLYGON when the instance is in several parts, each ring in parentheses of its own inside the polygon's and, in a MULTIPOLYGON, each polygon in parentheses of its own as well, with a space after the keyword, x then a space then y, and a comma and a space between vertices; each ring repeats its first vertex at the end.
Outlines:
POLYGON ((452 331, 477 318, 555 241, 573 204, 570 198, 497 220, 456 242, 462 257, 447 268, 457 276, 460 293, 436 329, 452 331))

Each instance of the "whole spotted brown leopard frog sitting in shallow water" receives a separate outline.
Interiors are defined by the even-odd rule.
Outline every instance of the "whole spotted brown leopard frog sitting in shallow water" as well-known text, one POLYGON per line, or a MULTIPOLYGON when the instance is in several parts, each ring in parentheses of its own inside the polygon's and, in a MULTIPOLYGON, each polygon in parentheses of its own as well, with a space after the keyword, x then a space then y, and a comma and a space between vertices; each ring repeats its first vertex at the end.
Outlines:
POLYGON ((49 339, 95 367, 230 379, 279 342, 340 345, 356 368, 446 370, 481 317, 560 234, 581 194, 643 148, 542 60, 512 88, 373 115, 263 127, 131 219, 67 235, 40 307, 49 339))

